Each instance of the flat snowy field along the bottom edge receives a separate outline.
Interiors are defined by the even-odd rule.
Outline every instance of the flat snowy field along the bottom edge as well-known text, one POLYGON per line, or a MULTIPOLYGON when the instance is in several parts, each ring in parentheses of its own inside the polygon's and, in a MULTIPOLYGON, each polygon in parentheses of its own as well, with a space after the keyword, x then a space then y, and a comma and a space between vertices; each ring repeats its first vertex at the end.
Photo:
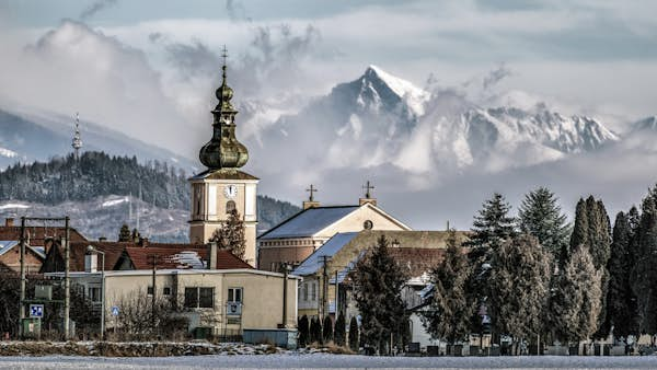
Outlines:
POLYGON ((657 369, 657 357, 366 357, 343 355, 157 358, 0 357, 0 369, 657 369))

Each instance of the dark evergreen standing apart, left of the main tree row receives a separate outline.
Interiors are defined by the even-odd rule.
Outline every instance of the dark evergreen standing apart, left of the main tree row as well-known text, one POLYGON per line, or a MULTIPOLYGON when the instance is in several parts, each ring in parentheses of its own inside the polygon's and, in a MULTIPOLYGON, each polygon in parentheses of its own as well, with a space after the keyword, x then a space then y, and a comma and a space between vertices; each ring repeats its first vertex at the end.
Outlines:
POLYGON ((400 340, 407 331, 408 315, 401 294, 405 281, 402 269, 388 253, 383 235, 356 265, 355 299, 362 317, 360 340, 378 347, 380 354, 391 335, 400 340))

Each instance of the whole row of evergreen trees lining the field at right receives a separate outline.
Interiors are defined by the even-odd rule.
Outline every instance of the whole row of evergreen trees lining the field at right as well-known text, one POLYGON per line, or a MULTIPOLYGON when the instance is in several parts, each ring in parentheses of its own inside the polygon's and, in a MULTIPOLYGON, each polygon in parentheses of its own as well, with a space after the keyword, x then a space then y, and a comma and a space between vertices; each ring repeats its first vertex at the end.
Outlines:
MULTIPOLYGON (((511 206, 495 193, 474 216, 469 240, 450 230, 445 259, 430 271, 434 293, 420 311, 434 339, 491 334, 521 344, 577 344, 613 334, 630 344, 657 334, 657 186, 641 207, 616 215, 601 199, 577 203, 570 224, 558 199, 540 187, 511 206)), ((390 351, 407 338, 401 301, 407 277, 379 240, 354 271, 361 342, 390 351)))

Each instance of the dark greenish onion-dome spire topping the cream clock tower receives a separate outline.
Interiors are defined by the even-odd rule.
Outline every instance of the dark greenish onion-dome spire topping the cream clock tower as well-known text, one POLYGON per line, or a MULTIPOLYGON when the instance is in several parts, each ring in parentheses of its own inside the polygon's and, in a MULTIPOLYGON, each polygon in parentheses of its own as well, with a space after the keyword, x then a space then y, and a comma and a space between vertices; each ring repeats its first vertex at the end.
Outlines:
POLYGON ((232 89, 227 83, 227 62, 228 50, 223 46, 221 54, 223 66, 221 67, 221 85, 217 89, 215 95, 219 104, 212 109, 214 134, 212 138, 206 143, 199 153, 200 162, 209 170, 235 170, 249 161, 249 150, 235 138, 235 115, 238 111, 230 102, 233 96, 232 89))

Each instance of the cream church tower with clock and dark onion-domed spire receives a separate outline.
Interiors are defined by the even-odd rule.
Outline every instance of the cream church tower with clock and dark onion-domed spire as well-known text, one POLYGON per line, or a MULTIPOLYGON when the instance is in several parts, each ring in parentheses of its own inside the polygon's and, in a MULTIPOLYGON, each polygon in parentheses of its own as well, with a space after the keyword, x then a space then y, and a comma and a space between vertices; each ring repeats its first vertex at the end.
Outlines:
POLYGON ((212 109, 212 138, 199 153, 206 171, 189 178, 192 187, 192 216, 189 241, 207 243, 221 222, 237 209, 244 221, 246 250, 244 259, 255 266, 255 227, 257 224, 256 195, 258 178, 239 169, 246 164, 249 151, 235 138, 235 115, 232 106, 233 91, 226 82, 226 48, 223 54, 223 81, 216 95, 219 104, 212 109))

